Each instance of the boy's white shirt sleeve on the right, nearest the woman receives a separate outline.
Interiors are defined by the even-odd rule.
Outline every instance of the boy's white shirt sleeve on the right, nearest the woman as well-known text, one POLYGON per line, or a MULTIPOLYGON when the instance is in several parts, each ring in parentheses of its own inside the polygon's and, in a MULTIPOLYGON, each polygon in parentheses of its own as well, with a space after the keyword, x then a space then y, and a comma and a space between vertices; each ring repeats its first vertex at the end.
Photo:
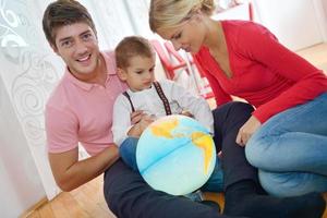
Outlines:
POLYGON ((183 109, 189 110, 195 120, 203 124, 210 133, 214 133, 213 112, 204 98, 192 95, 174 82, 165 81, 162 84, 169 90, 172 100, 175 100, 183 109))

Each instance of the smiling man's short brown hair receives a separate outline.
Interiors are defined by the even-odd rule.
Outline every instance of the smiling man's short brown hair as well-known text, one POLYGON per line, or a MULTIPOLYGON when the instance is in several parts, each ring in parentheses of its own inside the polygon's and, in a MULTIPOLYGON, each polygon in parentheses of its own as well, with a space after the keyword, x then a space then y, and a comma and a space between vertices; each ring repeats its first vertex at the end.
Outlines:
POLYGON ((43 28, 47 40, 56 47, 56 31, 65 25, 83 22, 97 34, 87 9, 75 0, 57 0, 50 3, 43 19, 43 28))

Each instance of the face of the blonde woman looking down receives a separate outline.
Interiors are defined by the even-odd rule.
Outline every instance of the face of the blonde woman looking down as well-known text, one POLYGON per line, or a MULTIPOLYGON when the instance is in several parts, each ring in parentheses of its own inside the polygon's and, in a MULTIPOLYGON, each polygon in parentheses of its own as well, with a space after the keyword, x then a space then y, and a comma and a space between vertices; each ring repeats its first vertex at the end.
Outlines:
POLYGON ((186 52, 196 53, 205 39, 205 28, 198 16, 195 14, 177 27, 158 29, 157 34, 170 40, 175 50, 183 49, 186 52))

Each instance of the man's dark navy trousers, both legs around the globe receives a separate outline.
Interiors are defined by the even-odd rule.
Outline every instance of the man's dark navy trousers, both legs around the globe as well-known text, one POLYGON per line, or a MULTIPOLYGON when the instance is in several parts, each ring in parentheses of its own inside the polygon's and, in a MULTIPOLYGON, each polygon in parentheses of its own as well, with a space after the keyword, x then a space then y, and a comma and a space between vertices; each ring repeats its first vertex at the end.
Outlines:
MULTIPOLYGON (((256 181, 256 170, 247 164, 243 147, 235 144, 239 129, 250 118, 252 107, 242 102, 226 104, 214 112, 215 144, 222 148, 222 168, 227 185, 245 180, 256 181)), ((122 147, 121 147, 122 149, 122 147)), ((217 149, 219 150, 219 149, 217 149)), ((124 218, 225 218, 217 210, 185 197, 177 197, 155 191, 140 173, 131 170, 119 159, 105 173, 104 194, 117 217, 124 218)), ((238 202, 240 206, 242 202, 238 202)))

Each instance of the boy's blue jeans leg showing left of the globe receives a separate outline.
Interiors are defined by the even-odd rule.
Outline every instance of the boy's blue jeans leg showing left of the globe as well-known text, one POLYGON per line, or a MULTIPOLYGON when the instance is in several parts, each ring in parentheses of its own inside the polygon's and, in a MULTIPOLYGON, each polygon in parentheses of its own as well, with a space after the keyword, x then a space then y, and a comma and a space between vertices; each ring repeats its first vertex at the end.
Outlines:
POLYGON ((137 137, 128 137, 119 147, 119 153, 122 160, 134 171, 138 172, 137 162, 136 162, 136 146, 138 138, 137 137))

